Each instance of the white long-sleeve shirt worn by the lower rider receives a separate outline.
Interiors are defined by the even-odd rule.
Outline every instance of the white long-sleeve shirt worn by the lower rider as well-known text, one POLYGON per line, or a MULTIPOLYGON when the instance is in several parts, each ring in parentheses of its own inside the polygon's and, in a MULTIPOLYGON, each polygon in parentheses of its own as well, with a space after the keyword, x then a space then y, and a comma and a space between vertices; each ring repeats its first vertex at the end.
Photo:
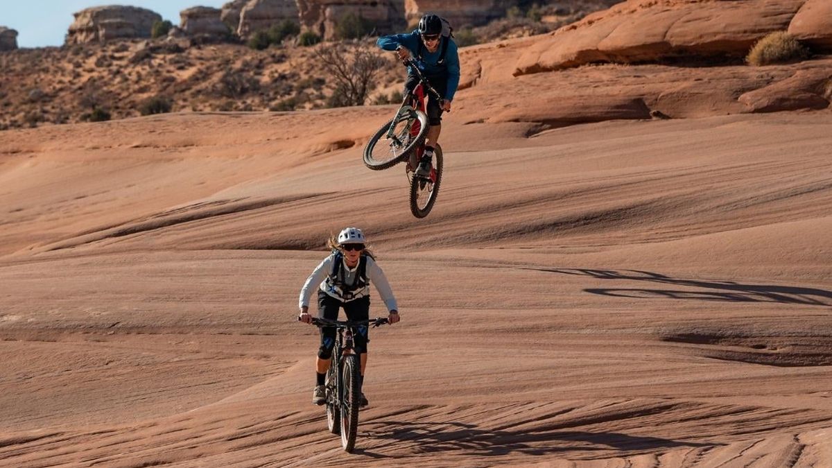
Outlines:
MULTIPOLYGON (((313 291, 316 289, 324 291, 329 296, 339 299, 340 301, 344 301, 344 298, 339 296, 337 291, 333 291, 332 288, 327 287, 327 278, 329 278, 329 272, 332 271, 332 262, 334 261, 334 258, 335 254, 331 254, 324 258, 324 260, 315 267, 312 274, 306 278, 304 286, 300 289, 300 307, 308 307, 310 305, 310 298, 312 297, 313 291), (314 285, 318 286, 315 287, 314 285)), ((387 306, 387 310, 398 311, 399 306, 396 304, 396 297, 393 295, 393 288, 390 287, 390 283, 387 281, 387 276, 384 276, 384 271, 382 271, 379 264, 377 264, 370 256, 360 256, 359 263, 357 263, 354 268, 349 268, 345 260, 341 261, 341 268, 344 270, 344 282, 347 284, 354 284, 356 280, 355 276, 358 274, 361 261, 365 261, 365 259, 367 261, 367 287, 364 287, 361 291, 354 291, 354 296, 348 301, 359 299, 359 297, 369 296, 369 284, 373 283, 375 285, 375 289, 379 291, 379 296, 381 296, 381 300, 384 301, 384 305, 387 306)))

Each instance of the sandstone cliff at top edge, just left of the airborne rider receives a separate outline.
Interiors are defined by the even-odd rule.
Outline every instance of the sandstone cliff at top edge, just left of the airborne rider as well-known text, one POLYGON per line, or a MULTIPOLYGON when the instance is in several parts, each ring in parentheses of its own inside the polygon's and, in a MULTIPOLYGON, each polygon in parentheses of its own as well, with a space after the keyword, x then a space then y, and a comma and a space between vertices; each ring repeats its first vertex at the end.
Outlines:
POLYGON ((380 34, 405 26, 401 0, 298 0, 298 8, 304 29, 324 39, 334 38, 338 22, 349 14, 369 21, 380 34))

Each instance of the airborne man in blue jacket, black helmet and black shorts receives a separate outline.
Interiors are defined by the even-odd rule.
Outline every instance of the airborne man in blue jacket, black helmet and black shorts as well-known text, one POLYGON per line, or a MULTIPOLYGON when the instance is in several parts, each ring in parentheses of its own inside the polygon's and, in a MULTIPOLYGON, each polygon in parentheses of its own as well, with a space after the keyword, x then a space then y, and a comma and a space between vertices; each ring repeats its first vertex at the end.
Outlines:
MULTIPOLYGON (((442 102, 435 102, 433 96, 428 99, 427 111, 430 127, 425 137, 422 160, 416 169, 417 176, 428 177, 433 148, 436 146, 439 132, 442 131, 442 112, 450 112, 453 95, 459 86, 457 44, 453 42, 450 34, 443 35, 443 20, 433 14, 424 15, 414 32, 382 36, 379 37, 377 43, 384 50, 396 51, 401 60, 414 57, 430 85, 440 96, 443 96, 442 102)), ((418 78, 413 71, 409 71, 404 87, 406 90, 412 90, 416 85, 418 85, 418 78)))

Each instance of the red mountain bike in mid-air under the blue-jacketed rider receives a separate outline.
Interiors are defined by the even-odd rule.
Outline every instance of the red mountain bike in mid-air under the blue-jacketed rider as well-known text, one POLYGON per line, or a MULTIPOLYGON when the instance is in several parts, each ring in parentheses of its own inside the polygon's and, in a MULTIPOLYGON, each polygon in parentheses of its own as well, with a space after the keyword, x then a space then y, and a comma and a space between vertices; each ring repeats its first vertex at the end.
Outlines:
POLYGON ((374 171, 380 171, 407 161, 404 172, 410 183, 410 212, 414 217, 423 218, 428 216, 436 203, 439 184, 442 182, 443 164, 442 147, 437 144, 433 150, 428 177, 415 175, 424 152, 424 137, 428 133, 426 93, 438 101, 441 101, 442 97, 430 86, 416 62, 408 59, 403 63, 415 72, 418 85, 405 93, 396 115, 369 139, 364 147, 364 165, 374 171))

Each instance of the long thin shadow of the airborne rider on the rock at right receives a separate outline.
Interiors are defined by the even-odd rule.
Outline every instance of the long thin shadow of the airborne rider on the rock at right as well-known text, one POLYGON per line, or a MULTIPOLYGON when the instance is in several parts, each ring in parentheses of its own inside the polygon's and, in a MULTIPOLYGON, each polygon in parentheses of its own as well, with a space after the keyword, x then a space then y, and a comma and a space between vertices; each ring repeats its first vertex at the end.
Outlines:
POLYGON ((801 286, 743 284, 735 281, 706 281, 674 278, 637 270, 593 270, 585 268, 527 268, 562 275, 592 276, 600 280, 644 281, 676 288, 587 288, 584 291, 600 296, 683 299, 697 301, 777 302, 806 306, 832 306, 832 291, 801 286), (698 288, 699 291, 696 289, 698 288))

